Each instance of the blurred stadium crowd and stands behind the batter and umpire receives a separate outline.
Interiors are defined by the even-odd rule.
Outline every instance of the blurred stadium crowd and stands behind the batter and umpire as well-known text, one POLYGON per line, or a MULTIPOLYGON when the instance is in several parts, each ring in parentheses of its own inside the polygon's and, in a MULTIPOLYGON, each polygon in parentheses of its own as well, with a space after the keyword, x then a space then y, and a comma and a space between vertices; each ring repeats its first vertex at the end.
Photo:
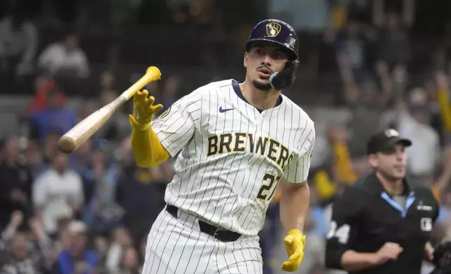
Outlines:
MULTIPOLYGON (((0 274, 140 273, 172 162, 134 164, 131 102, 76 152, 58 152, 57 140, 147 66, 162 71, 148 89, 165 108, 208 82, 243 80, 244 43, 268 17, 298 31, 301 65, 284 94, 317 129, 298 273, 335 273, 323 257, 331 202, 369 170, 377 129, 413 140, 410 173, 442 206, 433 243, 447 237, 451 1, 4 0, 0 274)), ((265 274, 281 273, 286 258, 277 199, 261 231, 265 274)))

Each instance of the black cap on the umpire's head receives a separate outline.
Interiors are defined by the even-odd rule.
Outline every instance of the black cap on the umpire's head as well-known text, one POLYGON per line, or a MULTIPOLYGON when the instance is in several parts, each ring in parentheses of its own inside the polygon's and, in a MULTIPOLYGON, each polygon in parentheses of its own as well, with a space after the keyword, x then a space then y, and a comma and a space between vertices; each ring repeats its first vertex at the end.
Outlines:
POLYGON ((385 129, 379 131, 371 136, 368 142, 368 154, 375 154, 377 152, 384 152, 394 144, 401 143, 405 147, 410 147, 412 141, 406 138, 401 138, 398 131, 395 129, 385 129))

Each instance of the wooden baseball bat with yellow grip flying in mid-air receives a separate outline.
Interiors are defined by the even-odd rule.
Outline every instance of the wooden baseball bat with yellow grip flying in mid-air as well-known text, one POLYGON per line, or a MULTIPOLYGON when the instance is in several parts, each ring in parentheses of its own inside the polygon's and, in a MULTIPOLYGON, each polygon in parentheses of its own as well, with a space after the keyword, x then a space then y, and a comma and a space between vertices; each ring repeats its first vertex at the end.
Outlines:
POLYGON ((67 131, 60 140, 58 140, 58 147, 64 153, 71 153, 76 150, 82 143, 88 140, 93 134, 102 127, 109 117, 116 112, 116 110, 128 101, 132 96, 145 87, 149 82, 160 80, 161 73, 155 66, 149 66, 141 79, 129 87, 123 94, 120 94, 111 103, 100 108, 95 113, 92 113, 81 122, 78 122, 75 127, 67 131))

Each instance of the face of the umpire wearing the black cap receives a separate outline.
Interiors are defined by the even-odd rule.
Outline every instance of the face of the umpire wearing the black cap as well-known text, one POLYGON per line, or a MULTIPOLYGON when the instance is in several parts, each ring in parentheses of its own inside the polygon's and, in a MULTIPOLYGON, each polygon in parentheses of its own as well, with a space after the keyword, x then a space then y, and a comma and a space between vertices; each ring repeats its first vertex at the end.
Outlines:
POLYGON ((379 152, 374 161, 377 171, 384 177, 391 180, 398 180, 405 177, 407 156, 405 147, 402 144, 396 144, 384 152, 379 152))

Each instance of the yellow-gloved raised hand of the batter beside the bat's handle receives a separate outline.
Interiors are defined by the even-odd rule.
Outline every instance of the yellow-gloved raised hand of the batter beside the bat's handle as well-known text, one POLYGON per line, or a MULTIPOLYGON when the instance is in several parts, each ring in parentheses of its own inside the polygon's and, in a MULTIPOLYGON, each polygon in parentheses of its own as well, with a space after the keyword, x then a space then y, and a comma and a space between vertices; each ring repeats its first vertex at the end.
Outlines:
POLYGON ((153 115, 163 108, 162 104, 153 106, 154 102, 155 98, 153 96, 148 97, 147 90, 134 94, 133 115, 130 115, 130 119, 141 125, 150 123, 153 120, 153 115))

